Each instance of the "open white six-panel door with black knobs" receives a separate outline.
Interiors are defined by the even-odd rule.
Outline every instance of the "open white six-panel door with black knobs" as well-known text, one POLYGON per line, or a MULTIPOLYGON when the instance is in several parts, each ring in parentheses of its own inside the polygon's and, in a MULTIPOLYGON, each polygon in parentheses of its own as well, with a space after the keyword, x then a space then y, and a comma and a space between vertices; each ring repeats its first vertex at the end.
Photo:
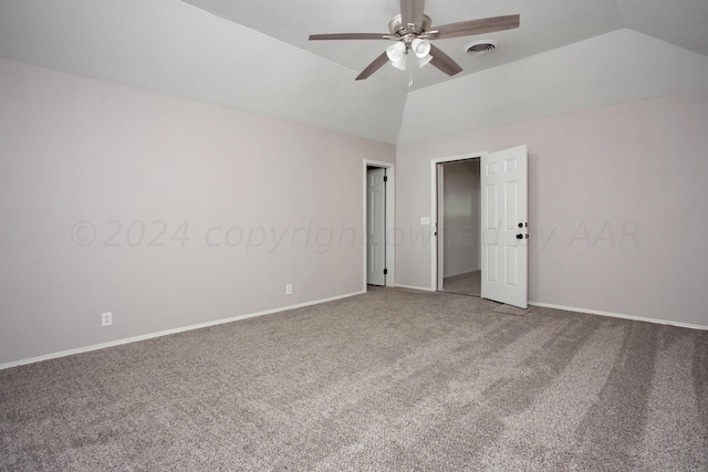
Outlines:
POLYGON ((481 158, 481 296, 528 305, 528 156, 519 146, 481 158))

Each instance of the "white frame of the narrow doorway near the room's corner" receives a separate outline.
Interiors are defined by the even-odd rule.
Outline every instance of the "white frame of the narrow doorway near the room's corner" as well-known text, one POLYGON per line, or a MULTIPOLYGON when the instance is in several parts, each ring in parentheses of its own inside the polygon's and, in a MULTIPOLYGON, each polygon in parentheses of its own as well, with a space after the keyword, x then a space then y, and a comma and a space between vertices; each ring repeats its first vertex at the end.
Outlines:
POLYGON ((364 235, 364 244, 362 245, 362 249, 363 249, 362 252, 364 253, 363 264, 362 264, 362 273, 363 273, 362 292, 366 292, 366 276, 367 276, 366 248, 368 242, 366 241, 366 238, 367 238, 366 216, 367 216, 368 209, 366 207, 366 198, 368 193, 368 186, 367 186, 368 182, 366 180, 366 168, 369 166, 381 167, 386 169, 386 177, 387 177, 387 181, 386 181, 386 269, 388 270, 386 274, 386 286, 394 286, 396 281, 396 274, 395 274, 396 245, 391 241, 391 237, 394 234, 394 224, 395 224, 394 196, 396 195, 395 193, 396 179, 394 175, 394 170, 395 170, 394 165, 391 162, 364 159, 363 172, 362 172, 363 174, 362 195, 364 197, 364 203, 363 203, 364 218, 363 218, 363 225, 362 225, 362 234, 364 235))

